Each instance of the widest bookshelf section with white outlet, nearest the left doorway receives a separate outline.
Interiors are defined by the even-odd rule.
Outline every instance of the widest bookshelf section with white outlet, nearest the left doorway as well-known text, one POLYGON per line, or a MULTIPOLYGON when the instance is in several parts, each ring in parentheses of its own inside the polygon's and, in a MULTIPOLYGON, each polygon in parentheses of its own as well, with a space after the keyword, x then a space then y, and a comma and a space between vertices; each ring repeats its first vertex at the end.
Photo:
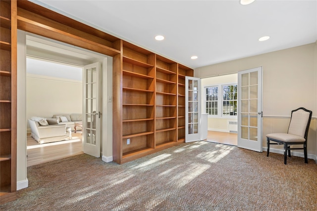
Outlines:
POLYGON ((122 42, 122 159, 154 149, 154 53, 122 42))

